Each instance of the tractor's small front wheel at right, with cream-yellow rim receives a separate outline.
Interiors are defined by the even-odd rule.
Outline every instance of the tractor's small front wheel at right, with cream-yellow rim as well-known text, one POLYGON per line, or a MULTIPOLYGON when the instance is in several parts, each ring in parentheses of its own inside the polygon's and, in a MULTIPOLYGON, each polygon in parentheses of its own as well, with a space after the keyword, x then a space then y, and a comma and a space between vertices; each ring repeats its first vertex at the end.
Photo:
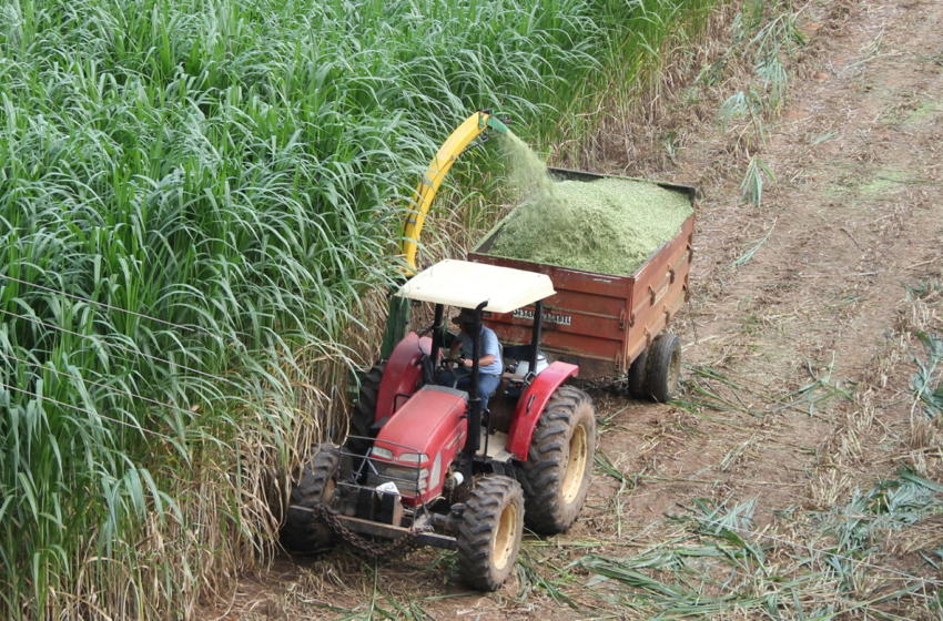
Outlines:
POLYGON ((458 576, 479 591, 494 591, 514 570, 524 535, 524 493, 508 477, 478 479, 458 527, 458 576))

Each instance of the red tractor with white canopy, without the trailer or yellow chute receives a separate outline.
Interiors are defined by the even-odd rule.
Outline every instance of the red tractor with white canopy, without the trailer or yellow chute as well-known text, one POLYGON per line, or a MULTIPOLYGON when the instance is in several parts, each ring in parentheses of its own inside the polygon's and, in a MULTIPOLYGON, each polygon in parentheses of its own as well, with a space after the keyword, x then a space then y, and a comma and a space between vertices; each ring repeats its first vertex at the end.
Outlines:
MULTIPOLYGON (((345 447, 315 447, 295 480, 282 541, 316 550, 344 538, 367 550, 375 538, 456 550, 469 586, 493 591, 510 574, 525 525, 564 532, 582 509, 596 450, 589 396, 565 384, 576 365, 541 363, 543 301, 549 276, 444 261, 396 294, 434 305, 426 330, 409 333, 362 381, 345 447), (506 314, 533 306, 529 345, 504 349, 506 367, 488 408, 478 393, 479 342, 470 388, 436 383, 454 360, 446 308, 506 314)), ((396 546, 396 543, 392 543, 396 546)))

